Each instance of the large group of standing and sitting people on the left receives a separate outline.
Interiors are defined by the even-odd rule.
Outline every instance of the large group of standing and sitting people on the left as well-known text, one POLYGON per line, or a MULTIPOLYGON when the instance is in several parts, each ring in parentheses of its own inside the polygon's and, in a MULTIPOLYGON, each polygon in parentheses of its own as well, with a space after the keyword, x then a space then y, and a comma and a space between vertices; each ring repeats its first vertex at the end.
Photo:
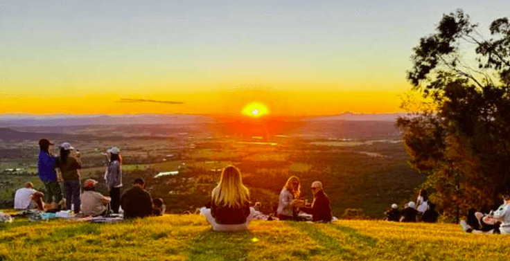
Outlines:
POLYGON ((109 197, 96 192, 94 179, 85 180, 83 186, 80 183, 79 170, 82 168, 80 153, 71 155, 74 148, 70 143, 60 145, 60 156, 49 153, 49 147, 53 145, 43 138, 39 141, 39 178, 46 188, 46 195, 33 188, 33 183, 26 183, 24 188, 15 192, 15 209, 35 209, 47 212, 56 212, 62 208, 61 203, 66 202, 64 208, 73 210, 75 214, 85 216, 105 216, 109 212, 119 213, 123 209, 124 218, 147 217, 150 215, 163 215, 164 204, 160 198, 152 200, 145 188, 143 179, 135 179, 134 186, 125 190, 121 195, 122 184, 122 158, 118 147, 107 150, 107 170, 105 171, 105 183, 109 197), (65 191, 65 200, 62 196, 62 182, 65 191), (44 201, 42 198, 45 197, 44 201))

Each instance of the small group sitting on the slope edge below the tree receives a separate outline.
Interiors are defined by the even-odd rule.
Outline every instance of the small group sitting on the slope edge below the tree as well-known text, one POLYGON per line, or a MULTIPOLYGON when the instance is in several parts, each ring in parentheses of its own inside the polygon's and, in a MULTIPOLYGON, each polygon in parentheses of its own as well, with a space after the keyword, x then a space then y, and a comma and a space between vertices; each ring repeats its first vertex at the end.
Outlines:
POLYGON ((397 204, 392 204, 392 208, 385 212, 386 220, 393 222, 437 222, 439 213, 436 211, 436 205, 428 201, 427 190, 420 190, 419 196, 414 201, 405 204, 403 210, 398 210, 397 204))

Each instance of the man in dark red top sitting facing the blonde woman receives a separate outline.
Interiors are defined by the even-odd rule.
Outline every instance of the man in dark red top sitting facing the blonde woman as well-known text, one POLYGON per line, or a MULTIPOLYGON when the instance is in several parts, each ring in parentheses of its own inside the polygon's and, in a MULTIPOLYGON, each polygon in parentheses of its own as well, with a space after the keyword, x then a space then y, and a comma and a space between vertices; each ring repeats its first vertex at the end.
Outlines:
POLYGON ((322 182, 314 181, 311 190, 313 193, 312 207, 299 209, 305 213, 312 214, 313 222, 331 222, 331 206, 329 206, 329 198, 322 188, 322 182))

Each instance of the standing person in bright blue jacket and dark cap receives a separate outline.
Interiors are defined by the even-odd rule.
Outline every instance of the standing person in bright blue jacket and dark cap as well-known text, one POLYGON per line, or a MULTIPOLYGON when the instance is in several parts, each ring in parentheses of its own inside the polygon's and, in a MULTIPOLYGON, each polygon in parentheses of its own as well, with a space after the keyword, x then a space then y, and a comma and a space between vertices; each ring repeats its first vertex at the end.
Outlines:
POLYGON ((50 204, 50 208, 57 208, 58 203, 62 200, 62 189, 57 180, 57 172, 55 172, 55 161, 57 158, 50 154, 49 147, 53 145, 46 138, 42 138, 39 141, 39 161, 37 166, 39 167, 39 178, 46 187, 46 201, 50 204))

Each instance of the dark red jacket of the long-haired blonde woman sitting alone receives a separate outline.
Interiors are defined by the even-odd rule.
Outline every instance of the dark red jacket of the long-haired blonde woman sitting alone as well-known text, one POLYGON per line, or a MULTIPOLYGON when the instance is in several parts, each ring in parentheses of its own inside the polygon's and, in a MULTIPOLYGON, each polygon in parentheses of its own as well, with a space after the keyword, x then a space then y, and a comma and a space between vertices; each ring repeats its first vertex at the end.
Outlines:
POLYGON ((216 206, 211 201, 211 215, 218 224, 243 224, 249 216, 249 201, 241 207, 216 206))

